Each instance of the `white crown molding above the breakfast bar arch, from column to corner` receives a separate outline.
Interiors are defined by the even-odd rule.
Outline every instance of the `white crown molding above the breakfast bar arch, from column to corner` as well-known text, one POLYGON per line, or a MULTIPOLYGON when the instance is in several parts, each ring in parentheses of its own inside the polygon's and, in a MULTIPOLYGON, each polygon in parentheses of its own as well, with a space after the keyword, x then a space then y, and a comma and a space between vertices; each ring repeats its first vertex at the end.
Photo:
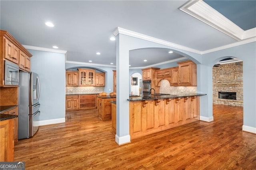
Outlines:
POLYGON ((164 40, 160 40, 158 38, 146 36, 144 34, 133 32, 133 31, 130 31, 130 30, 126 30, 126 29, 120 28, 120 27, 117 27, 116 30, 113 32, 113 34, 115 36, 117 36, 118 34, 124 34, 124 35, 127 35, 127 36, 140 38, 142 40, 147 40, 147 41, 150 41, 150 42, 166 45, 168 47, 174 47, 174 48, 177 48, 177 49, 182 49, 182 50, 190 51, 190 52, 193 52, 193 53, 201 54, 201 51, 199 51, 199 50, 192 49, 192 48, 189 48, 189 47, 185 47, 185 46, 182 46, 182 45, 178 45, 176 43, 171 43, 171 42, 167 42, 167 41, 164 41, 164 40))

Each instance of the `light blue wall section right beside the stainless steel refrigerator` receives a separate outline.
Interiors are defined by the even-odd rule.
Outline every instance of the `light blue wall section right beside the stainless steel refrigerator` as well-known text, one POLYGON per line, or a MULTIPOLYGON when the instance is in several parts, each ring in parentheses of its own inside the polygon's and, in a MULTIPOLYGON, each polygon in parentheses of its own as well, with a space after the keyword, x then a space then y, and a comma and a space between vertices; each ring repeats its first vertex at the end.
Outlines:
POLYGON ((40 121, 65 118, 65 54, 28 50, 40 78, 40 121))

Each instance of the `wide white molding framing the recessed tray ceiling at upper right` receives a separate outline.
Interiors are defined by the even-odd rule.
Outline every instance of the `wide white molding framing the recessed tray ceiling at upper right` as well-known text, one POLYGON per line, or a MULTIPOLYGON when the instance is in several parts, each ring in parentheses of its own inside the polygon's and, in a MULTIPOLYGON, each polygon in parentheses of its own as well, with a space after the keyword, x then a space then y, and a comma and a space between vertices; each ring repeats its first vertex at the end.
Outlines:
POLYGON ((180 7, 180 10, 212 26, 235 40, 244 40, 256 36, 255 29, 244 31, 242 28, 228 20, 214 8, 202 0, 191 0, 180 7))

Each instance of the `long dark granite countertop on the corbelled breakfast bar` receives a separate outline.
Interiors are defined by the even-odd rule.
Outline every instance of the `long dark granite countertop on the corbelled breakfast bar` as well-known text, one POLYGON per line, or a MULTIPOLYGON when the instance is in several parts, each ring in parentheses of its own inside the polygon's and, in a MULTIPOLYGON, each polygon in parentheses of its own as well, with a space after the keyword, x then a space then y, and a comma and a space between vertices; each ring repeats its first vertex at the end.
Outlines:
POLYGON ((144 100, 172 99, 172 98, 179 98, 179 97, 204 96, 204 95, 206 94, 190 93, 190 94, 181 94, 181 95, 161 95, 161 96, 152 95, 152 97, 130 97, 130 99, 127 99, 127 100, 128 101, 144 101, 144 100))

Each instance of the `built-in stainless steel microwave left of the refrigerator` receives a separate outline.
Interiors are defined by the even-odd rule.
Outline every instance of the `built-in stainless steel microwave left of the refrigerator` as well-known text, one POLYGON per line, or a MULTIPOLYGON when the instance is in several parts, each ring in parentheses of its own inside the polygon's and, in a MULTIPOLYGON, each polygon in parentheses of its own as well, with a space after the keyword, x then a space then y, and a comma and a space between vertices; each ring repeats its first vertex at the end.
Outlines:
POLYGON ((4 84, 19 85, 19 66, 11 61, 4 61, 4 84))

